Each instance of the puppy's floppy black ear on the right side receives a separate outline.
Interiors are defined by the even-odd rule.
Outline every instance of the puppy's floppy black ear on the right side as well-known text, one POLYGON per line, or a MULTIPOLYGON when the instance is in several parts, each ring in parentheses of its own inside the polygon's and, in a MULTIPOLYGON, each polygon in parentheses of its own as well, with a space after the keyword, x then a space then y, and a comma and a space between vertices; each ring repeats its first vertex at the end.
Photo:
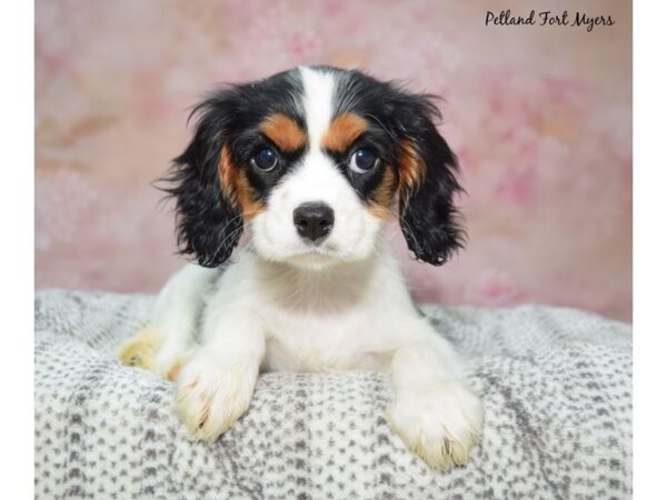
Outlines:
POLYGON ((461 191, 458 163, 434 119, 428 96, 402 94, 395 110, 399 138, 399 212, 408 248, 417 259, 445 263, 465 242, 454 197, 461 191))

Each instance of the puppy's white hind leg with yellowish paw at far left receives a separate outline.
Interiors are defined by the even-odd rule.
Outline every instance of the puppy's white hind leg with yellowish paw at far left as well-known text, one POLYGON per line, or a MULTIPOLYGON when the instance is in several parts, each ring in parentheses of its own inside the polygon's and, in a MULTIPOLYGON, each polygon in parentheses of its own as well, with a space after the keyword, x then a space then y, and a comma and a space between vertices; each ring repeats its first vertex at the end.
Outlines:
POLYGON ((120 361, 172 380, 192 343, 205 296, 218 276, 218 270, 193 263, 173 274, 160 291, 150 323, 120 347, 120 361))

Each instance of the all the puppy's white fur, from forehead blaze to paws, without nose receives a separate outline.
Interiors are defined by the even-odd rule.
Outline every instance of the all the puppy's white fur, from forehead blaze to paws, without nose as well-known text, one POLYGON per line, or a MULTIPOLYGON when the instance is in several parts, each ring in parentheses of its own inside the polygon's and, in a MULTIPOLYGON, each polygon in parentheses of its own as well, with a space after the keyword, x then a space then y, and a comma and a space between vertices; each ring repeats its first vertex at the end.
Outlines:
POLYGON ((250 223, 250 244, 218 271, 195 264, 160 294, 152 329, 162 339, 161 374, 192 343, 206 299, 201 346, 180 370, 177 412, 192 434, 215 440, 248 409, 261 370, 390 371, 396 399, 387 419, 430 466, 465 463, 481 432, 484 408, 467 388, 449 343, 415 309, 366 210, 319 143, 331 120, 331 74, 303 68, 309 149, 272 189, 250 223), (305 202, 334 209, 319 244, 297 233, 305 202))

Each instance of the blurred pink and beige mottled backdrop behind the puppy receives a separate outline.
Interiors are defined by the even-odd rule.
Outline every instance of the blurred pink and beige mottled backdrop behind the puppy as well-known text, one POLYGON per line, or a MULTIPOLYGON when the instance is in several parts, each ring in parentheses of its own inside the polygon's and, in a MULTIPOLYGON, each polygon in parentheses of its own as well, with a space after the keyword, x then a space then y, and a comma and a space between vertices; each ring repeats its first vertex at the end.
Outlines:
POLYGON ((37 0, 36 18, 37 288, 159 290, 183 260, 149 183, 189 107, 326 63, 445 98, 469 242, 434 268, 395 238, 418 299, 631 320, 630 1, 37 0), (485 26, 536 6, 616 24, 485 26))

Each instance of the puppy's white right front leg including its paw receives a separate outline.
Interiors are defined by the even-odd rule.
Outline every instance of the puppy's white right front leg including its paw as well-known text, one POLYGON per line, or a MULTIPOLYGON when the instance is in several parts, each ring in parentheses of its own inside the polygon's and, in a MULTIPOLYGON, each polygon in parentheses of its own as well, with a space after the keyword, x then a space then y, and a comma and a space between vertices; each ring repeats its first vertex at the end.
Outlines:
POLYGON ((391 363, 396 397, 387 418, 430 467, 462 466, 481 436, 484 407, 461 377, 449 342, 425 319, 410 320, 408 328, 412 337, 391 363))

